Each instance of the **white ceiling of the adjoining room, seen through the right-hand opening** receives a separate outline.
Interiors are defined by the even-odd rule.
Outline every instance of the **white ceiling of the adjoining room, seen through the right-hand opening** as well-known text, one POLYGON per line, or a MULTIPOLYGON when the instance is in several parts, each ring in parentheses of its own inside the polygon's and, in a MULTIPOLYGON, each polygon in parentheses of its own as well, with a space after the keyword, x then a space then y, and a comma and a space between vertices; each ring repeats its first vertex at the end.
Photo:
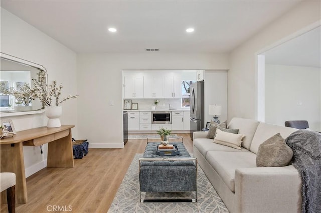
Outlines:
POLYGON ((321 27, 266 51, 265 63, 321 67, 321 27))

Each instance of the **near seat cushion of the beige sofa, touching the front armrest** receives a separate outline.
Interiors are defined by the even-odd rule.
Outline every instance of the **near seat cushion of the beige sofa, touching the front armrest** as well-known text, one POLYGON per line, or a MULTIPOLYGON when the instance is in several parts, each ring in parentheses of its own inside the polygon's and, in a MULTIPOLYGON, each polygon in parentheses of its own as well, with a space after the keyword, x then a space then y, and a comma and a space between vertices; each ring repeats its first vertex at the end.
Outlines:
POLYGON ((256 154, 247 150, 242 152, 209 151, 206 159, 232 192, 234 192, 235 170, 256 168, 256 154))

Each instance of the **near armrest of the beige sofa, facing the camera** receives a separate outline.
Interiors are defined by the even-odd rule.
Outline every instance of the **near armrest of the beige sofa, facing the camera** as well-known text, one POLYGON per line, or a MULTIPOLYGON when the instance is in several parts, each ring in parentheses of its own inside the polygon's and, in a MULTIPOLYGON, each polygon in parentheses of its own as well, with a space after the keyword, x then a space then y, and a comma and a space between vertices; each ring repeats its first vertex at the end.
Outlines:
POLYGON ((302 182, 292 166, 235 170, 237 212, 301 212, 302 182))

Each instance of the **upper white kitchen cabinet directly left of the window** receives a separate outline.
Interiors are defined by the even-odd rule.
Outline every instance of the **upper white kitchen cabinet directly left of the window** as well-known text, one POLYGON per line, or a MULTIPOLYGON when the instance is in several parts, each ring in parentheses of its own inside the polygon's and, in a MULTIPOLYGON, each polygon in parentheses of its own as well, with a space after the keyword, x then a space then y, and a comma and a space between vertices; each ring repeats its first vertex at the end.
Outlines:
POLYGON ((166 73, 165 98, 182 98, 182 73, 181 72, 166 73))

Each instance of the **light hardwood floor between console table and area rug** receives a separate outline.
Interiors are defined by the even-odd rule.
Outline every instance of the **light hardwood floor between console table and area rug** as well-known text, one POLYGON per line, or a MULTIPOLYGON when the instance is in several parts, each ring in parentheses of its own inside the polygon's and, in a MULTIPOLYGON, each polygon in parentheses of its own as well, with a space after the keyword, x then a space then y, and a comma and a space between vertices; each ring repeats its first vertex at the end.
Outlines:
MULTIPOLYGON (((178 136, 192 153, 190 135, 178 136)), ((16 212, 107 212, 132 159, 145 146, 145 139, 128 140, 123 149, 89 149, 74 160, 74 168, 40 170, 27 178, 28 202, 16 204, 16 212)), ((1 212, 7 212, 6 204, 1 212)))

